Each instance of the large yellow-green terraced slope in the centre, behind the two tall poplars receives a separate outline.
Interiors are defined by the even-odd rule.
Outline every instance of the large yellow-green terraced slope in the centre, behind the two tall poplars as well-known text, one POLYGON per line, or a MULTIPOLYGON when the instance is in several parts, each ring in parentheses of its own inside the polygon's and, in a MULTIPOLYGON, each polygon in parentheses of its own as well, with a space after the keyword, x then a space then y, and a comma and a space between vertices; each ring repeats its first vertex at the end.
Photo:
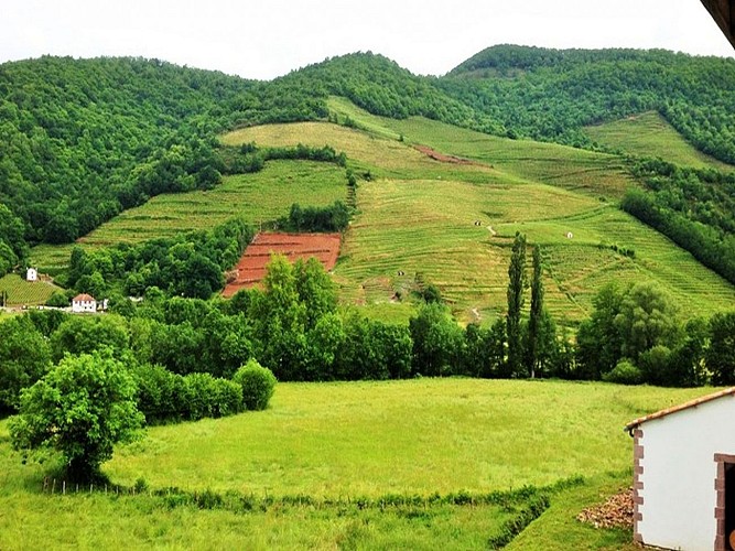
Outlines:
POLYGON ((370 171, 335 269, 350 302, 394 302, 421 273, 439 284, 460 318, 491 318, 505 309, 508 246, 517 230, 543 246, 547 303, 560 320, 585 317, 594 294, 610 281, 658 282, 687 304, 685 315, 735 300, 729 283, 617 208, 635 182, 615 155, 421 118, 383 119, 344 101, 331 106, 364 130, 274 125, 238 130, 224 141, 328 143, 345 151, 354 169, 370 171), (417 144, 475 162, 436 161, 417 144), (633 258, 621 249, 633 250, 633 258))

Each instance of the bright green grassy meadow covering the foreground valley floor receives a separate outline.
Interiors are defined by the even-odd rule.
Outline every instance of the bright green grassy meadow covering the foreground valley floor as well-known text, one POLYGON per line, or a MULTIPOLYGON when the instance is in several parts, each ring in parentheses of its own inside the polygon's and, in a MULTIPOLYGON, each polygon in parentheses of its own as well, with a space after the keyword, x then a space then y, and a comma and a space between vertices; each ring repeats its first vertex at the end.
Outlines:
POLYGON ((0 548, 486 549, 525 503, 483 496, 572 479, 545 490, 549 508, 509 549, 623 549, 629 532, 575 520, 629 485, 623 426, 709 391, 473 379, 281 383, 263 412, 151 428, 118 447, 105 472, 114 484, 138 482, 136 496, 43 494, 45 467, 21 465, 0 421, 0 548), (153 494, 172 486, 225 500, 196 506, 153 494), (452 495, 476 503, 442 499, 452 495))

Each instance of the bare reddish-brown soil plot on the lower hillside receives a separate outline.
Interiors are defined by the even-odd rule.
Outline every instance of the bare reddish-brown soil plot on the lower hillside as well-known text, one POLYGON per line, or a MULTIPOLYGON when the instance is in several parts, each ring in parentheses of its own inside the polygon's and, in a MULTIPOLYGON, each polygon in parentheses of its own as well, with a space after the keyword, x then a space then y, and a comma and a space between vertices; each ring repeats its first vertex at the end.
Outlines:
POLYGON ((339 234, 258 234, 245 249, 223 296, 233 296, 240 289, 259 283, 266 276, 266 264, 275 252, 284 255, 290 262, 314 257, 329 271, 337 263, 339 241, 339 234))

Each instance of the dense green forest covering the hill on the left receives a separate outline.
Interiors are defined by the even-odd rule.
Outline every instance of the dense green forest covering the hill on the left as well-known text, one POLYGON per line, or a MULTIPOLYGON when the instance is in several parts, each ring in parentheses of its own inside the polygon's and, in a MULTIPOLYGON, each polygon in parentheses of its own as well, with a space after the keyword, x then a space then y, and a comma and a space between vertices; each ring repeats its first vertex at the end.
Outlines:
POLYGON ((0 66, 0 272, 28 242, 73 241, 151 196, 216 185, 224 128, 326 115, 287 87, 156 60, 0 66))

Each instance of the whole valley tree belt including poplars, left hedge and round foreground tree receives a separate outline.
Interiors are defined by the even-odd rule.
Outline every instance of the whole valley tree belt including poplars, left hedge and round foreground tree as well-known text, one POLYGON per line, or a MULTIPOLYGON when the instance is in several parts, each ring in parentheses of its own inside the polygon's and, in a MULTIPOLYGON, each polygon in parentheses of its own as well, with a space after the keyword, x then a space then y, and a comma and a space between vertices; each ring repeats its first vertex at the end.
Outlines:
POLYGON ((17 449, 51 449, 68 476, 89 480, 112 445, 134 437, 143 423, 263 409, 277 380, 735 383, 735 311, 682 324, 674 302, 655 285, 608 285, 573 342, 543 306, 538 246, 529 315, 521 314, 527 248, 517 235, 508 311, 489 326, 458 325, 431 284, 408 324, 369 320, 338 306, 318 261, 292 264, 282 256, 272 258, 262 289, 230 300, 166 296, 151 287, 142 302, 123 299, 106 315, 32 311, 0 324, 0 410, 20 413, 10 422, 17 449))

